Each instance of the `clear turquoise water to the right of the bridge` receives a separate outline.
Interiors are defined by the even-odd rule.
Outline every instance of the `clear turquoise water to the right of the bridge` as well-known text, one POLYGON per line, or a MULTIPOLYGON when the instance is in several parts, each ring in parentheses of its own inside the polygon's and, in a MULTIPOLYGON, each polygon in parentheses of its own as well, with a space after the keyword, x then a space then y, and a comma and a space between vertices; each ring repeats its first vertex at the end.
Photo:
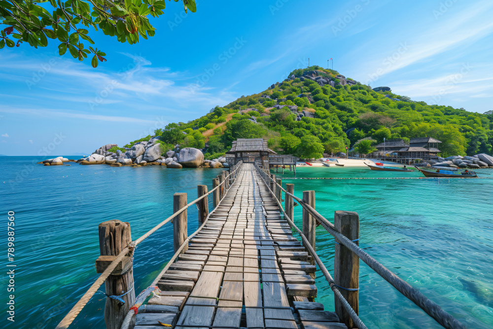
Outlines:
MULTIPOLYGON (((493 174, 492 170, 480 170, 493 174)), ((478 171, 478 172, 480 172, 478 171)), ((272 171, 272 173, 275 173, 272 171)), ((467 328, 493 328, 493 180, 290 180, 295 195, 315 190, 317 211, 360 218, 359 245, 467 328)), ((297 177, 422 177, 362 167, 297 168, 297 177)), ((489 177, 489 176, 482 176, 489 177)), ((294 208, 301 227, 301 206, 294 208)), ((333 274, 334 242, 317 227, 317 254, 333 274)), ((317 272, 317 301, 334 295, 317 272)), ((368 328, 442 328, 360 261, 359 315, 368 328)))

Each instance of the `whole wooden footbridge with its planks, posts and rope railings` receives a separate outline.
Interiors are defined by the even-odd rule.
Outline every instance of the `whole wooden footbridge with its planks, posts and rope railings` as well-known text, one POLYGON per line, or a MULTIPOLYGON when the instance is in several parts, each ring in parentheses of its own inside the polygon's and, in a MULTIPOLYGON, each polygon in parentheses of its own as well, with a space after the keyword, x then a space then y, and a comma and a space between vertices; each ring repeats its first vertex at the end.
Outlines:
POLYGON ((128 223, 100 224, 102 256, 96 265, 102 275, 57 329, 68 328, 103 283, 106 327, 111 329, 366 329, 357 315, 359 259, 444 328, 464 328, 358 247, 356 213, 336 212, 332 224, 315 210, 315 191, 299 199, 293 189, 293 184, 282 188, 275 175, 256 164, 239 162, 229 175, 223 172, 213 180, 210 192, 199 185, 199 197, 188 204, 186 193, 176 193, 174 214, 131 243, 124 239, 130 237, 128 223), (211 193, 214 209, 209 213, 211 193), (302 230, 292 221, 293 200, 303 207, 302 230), (200 227, 187 237, 186 209, 194 204, 200 227), (134 249, 172 219, 175 255, 135 297, 134 249), (317 223, 335 237, 334 279, 315 252, 317 223), (335 294, 335 312, 315 302, 316 265, 335 294))

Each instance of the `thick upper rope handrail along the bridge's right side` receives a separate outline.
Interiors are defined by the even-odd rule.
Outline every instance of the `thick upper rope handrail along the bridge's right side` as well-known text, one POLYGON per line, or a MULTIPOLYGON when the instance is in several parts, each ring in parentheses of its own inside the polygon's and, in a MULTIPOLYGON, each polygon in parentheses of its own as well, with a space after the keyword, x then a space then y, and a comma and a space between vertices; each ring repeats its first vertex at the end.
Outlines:
MULTIPOLYGON (((257 168, 257 167, 256 167, 257 168)), ((270 181, 274 181, 270 175, 260 168, 257 168, 259 174, 270 181)), ((265 179, 264 179, 265 181, 265 179)), ((361 260, 363 260, 371 269, 373 269, 377 274, 379 274, 383 279, 390 283, 395 289, 401 292, 404 296, 418 305, 423 309, 426 314, 435 319, 441 326, 448 329, 463 329, 464 326, 457 321, 449 313, 445 312, 438 304, 431 301, 422 292, 413 288, 409 283, 399 278, 395 273, 387 269, 384 265, 378 262, 375 258, 368 255, 363 249, 359 248, 355 243, 348 239, 345 235, 337 232, 335 230, 334 224, 325 219, 320 215, 313 207, 303 202, 302 199, 296 197, 295 195, 287 192, 280 184, 274 181, 276 186, 279 186, 284 193, 291 196, 296 200, 303 208, 307 210, 317 221, 329 232, 333 237, 340 241, 340 244, 344 245, 350 249, 355 255, 357 255, 361 260)), ((269 185, 269 184, 267 184, 269 185)), ((270 189, 270 188, 269 188, 270 189)), ((284 210, 283 210, 284 211, 284 210)))

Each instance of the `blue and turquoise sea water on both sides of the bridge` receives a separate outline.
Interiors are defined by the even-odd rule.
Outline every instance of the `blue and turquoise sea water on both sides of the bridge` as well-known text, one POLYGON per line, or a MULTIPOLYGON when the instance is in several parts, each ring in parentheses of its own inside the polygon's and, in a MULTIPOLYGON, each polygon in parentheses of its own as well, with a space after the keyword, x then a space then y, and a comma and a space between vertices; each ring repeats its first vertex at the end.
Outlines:
MULTIPOLYGON (((70 158, 70 156, 68 156, 70 158)), ((128 221, 140 237, 173 209, 173 194, 196 198, 220 169, 104 165, 44 167, 40 157, 0 157, 2 220, 15 212, 15 323, 5 328, 54 328, 98 277, 98 224, 128 221)), ((488 171, 485 171, 488 172, 488 171)), ((281 173, 278 173, 282 176, 281 173)), ((298 168, 297 177, 420 177, 368 168, 298 168)), ((296 195, 316 190, 317 210, 360 216, 360 246, 468 328, 493 327, 493 180, 290 180, 296 195)), ((197 211, 188 209, 188 232, 197 211)), ((301 225, 301 207, 295 207, 301 225)), ((6 225, 4 225, 5 227, 6 225)), ((0 234, 6 241, 6 227, 0 234)), ((5 246, 6 242, 1 243, 5 246)), ((320 226, 317 253, 333 272, 334 243, 320 226)), ((5 250, 6 252, 6 250, 5 250)), ((136 292, 145 289, 173 255, 167 224, 136 249, 136 292)), ((2 260, 6 269, 7 259, 2 260)), ((1 297, 8 278, 2 271, 1 297)), ((317 301, 333 310, 333 293, 317 273, 317 301)), ((103 288, 101 288, 103 290, 103 288)), ((2 302, 3 303, 3 302, 2 302)), ((4 304, 4 303, 3 303, 4 304)), ((95 295, 70 328, 104 328, 103 294, 95 295)), ((4 311, 6 305, 4 304, 4 311)), ((6 313, 3 313, 6 314, 6 313)), ((364 263, 359 314, 369 328, 441 328, 364 263)), ((6 317, 6 316, 5 316, 6 317)), ((3 322, 5 323, 5 322, 3 322)))

